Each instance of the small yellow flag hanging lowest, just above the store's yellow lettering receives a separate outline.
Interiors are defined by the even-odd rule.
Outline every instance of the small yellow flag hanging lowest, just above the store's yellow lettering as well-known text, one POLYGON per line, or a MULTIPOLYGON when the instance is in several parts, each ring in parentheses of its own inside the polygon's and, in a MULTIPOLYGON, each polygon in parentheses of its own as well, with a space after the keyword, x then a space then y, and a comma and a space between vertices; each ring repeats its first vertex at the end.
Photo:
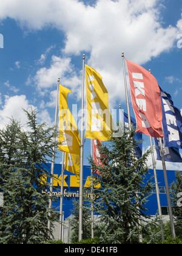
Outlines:
POLYGON ((79 155, 70 154, 70 153, 65 154, 64 169, 76 174, 76 177, 78 178, 79 178, 79 163, 80 163, 79 155))

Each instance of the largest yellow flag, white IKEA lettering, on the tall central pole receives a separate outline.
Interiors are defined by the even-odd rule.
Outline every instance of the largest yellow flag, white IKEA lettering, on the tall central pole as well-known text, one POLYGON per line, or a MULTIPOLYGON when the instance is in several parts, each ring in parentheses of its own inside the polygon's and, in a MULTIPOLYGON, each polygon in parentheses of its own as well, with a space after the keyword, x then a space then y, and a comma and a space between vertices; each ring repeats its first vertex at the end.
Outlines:
POLYGON ((112 131, 109 96, 102 77, 86 65, 87 130, 86 138, 107 141, 112 131))

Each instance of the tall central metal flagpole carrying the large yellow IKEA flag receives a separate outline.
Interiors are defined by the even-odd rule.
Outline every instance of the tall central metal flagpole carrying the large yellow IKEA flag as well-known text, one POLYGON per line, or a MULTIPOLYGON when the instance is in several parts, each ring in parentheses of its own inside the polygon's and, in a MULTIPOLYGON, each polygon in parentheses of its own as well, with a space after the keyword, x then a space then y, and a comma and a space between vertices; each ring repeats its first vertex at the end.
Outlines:
POLYGON ((81 100, 81 143, 80 143, 80 171, 79 171, 79 236, 83 240, 83 154, 84 154, 84 70, 85 54, 83 54, 82 100, 81 100))

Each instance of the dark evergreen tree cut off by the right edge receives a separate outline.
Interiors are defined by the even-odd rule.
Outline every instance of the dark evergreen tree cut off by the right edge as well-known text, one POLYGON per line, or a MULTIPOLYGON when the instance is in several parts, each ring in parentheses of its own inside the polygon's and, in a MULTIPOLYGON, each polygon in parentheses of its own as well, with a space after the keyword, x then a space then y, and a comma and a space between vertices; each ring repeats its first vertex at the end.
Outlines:
POLYGON ((182 207, 178 205, 180 197, 178 195, 182 192, 182 172, 176 172, 176 182, 171 185, 171 201, 172 201, 172 212, 175 216, 175 231, 176 235, 182 238, 182 207))

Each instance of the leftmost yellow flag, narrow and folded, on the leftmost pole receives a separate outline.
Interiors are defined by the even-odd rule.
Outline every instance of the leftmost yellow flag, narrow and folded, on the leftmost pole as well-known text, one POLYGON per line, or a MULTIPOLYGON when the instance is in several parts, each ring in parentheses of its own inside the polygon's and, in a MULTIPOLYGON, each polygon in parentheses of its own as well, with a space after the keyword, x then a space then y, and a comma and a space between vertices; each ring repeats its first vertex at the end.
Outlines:
POLYGON ((59 85, 59 147, 60 151, 80 154, 78 127, 67 104, 69 89, 59 85))

